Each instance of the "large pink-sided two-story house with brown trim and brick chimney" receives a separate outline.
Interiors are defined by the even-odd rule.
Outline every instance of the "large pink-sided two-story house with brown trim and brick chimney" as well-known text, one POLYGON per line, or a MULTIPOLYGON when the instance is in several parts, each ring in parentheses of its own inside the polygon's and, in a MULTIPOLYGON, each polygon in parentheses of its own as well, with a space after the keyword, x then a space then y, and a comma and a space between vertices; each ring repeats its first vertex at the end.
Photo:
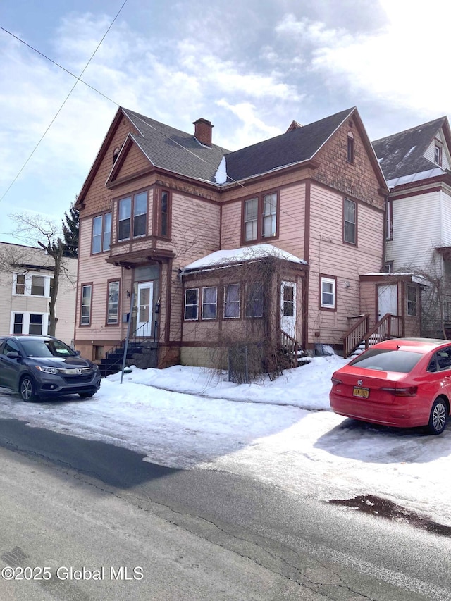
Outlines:
MULTIPOLYGON (((388 187, 357 109, 233 152, 212 130, 118 110, 78 197, 76 346, 101 359, 129 330, 158 366, 259 341, 349 352, 389 278, 388 187)), ((390 284, 409 334, 404 280, 390 284)))

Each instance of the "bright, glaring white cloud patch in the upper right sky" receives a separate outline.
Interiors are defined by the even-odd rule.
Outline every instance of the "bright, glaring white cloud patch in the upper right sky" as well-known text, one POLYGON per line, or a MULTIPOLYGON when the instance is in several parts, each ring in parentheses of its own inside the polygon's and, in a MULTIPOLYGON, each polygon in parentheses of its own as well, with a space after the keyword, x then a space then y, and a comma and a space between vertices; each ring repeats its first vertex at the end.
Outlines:
POLYGON ((357 99, 363 95, 417 113, 435 111, 439 116, 449 111, 447 87, 438 81, 448 43, 438 35, 437 16, 446 22, 451 7, 441 0, 432 0, 427 10, 403 0, 381 4, 388 23, 371 35, 351 35, 292 15, 276 31, 290 36, 299 51, 309 48, 310 69, 322 75, 328 89, 347 88, 357 99))

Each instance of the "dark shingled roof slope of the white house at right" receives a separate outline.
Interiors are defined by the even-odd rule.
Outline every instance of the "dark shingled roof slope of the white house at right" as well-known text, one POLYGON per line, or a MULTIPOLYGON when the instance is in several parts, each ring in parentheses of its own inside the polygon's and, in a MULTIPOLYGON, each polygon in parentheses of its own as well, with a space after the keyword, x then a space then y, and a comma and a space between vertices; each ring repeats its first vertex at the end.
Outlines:
POLYGON ((375 140, 373 148, 385 179, 390 181, 419 173, 425 173, 426 178, 445 173, 445 169, 424 156, 440 128, 443 128, 447 146, 451 148, 451 131, 446 117, 375 140), (429 173, 431 171, 435 173, 429 173))

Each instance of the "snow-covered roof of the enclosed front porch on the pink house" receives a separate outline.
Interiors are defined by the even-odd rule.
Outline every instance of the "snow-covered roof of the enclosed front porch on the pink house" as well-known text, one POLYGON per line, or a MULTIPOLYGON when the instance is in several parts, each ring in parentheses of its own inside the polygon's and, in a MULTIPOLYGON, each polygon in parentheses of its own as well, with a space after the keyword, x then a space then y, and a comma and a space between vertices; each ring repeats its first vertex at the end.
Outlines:
POLYGON ((216 250, 202 259, 197 259, 183 268, 181 275, 187 271, 207 271, 218 267, 228 267, 230 265, 244 263, 245 261, 258 261, 266 257, 273 256, 276 259, 283 259, 291 263, 307 265, 307 261, 273 246, 273 244, 255 244, 251 247, 241 247, 235 249, 216 250))

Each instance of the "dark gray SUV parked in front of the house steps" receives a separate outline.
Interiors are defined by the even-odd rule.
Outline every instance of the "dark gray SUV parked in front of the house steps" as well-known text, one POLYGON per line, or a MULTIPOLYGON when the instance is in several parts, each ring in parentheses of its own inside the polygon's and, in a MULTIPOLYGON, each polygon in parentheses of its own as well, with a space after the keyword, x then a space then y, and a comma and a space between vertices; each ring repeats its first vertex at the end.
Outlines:
POLYGON ((0 386, 16 390, 24 401, 74 394, 92 397, 100 380, 96 364, 57 338, 0 337, 0 386))

